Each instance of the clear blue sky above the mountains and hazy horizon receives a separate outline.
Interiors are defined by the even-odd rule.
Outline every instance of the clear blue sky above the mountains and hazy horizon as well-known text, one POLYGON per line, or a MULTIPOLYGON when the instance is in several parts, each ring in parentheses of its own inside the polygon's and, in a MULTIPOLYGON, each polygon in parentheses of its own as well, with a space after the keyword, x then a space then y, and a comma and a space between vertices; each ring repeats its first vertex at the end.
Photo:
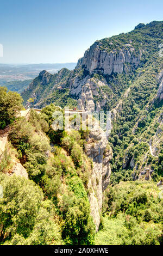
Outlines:
POLYGON ((0 0, 0 63, 77 62, 96 40, 161 21, 162 0, 0 0))

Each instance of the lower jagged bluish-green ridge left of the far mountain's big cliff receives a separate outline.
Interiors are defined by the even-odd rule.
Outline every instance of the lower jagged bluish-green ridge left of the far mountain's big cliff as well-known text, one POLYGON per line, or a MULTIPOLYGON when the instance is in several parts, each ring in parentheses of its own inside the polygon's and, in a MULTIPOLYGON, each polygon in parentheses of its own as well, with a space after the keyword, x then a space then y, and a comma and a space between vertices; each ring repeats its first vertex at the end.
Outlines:
POLYGON ((49 103, 55 102, 55 105, 65 106, 76 105, 76 101, 71 99, 67 85, 70 76, 70 70, 61 69, 57 74, 51 75, 46 70, 40 72, 29 88, 21 94, 24 105, 28 106, 28 99, 32 98, 30 103, 37 108, 42 108, 49 103))

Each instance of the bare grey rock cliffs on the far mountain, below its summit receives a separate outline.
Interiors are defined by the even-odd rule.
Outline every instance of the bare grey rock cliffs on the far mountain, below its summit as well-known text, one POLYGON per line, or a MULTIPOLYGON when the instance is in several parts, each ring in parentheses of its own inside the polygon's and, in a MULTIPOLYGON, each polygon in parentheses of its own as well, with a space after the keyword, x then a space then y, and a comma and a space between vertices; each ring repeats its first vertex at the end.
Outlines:
POLYGON ((93 112, 100 111, 105 106, 107 96, 101 88, 108 86, 108 83, 104 78, 92 78, 92 74, 99 72, 110 76, 113 73, 127 73, 137 68, 141 56, 141 50, 136 53, 129 45, 127 48, 107 52, 101 50, 98 43, 93 44, 77 64, 77 68, 86 70, 85 75, 70 79, 70 94, 78 99, 78 108, 93 112), (97 95, 101 95, 101 100, 97 101, 97 95))

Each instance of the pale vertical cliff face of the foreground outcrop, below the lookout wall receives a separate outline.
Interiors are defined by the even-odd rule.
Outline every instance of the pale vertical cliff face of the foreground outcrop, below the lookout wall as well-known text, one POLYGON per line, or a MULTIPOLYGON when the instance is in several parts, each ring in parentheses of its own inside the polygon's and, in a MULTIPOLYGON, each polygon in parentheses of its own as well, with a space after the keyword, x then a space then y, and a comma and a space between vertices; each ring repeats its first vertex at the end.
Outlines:
POLYGON ((98 231, 103 203, 103 191, 109 185, 110 181, 112 150, 108 146, 105 132, 101 128, 98 128, 96 121, 94 121, 93 129, 91 129, 86 141, 86 155, 93 161, 92 174, 89 180, 89 201, 91 215, 96 224, 96 231, 98 231))

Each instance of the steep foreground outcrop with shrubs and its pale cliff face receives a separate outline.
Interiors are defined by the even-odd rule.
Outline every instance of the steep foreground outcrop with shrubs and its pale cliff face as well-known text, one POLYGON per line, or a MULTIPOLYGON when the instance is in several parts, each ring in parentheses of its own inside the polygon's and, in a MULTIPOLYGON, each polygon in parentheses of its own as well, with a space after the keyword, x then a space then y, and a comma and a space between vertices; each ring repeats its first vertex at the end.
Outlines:
MULTIPOLYGON (((34 189, 34 184, 36 191, 39 191, 40 187, 40 196, 44 198, 45 204, 53 205, 50 207, 54 209, 49 211, 49 214, 54 218, 53 225, 59 224, 56 232, 62 237, 60 241, 73 245, 92 244, 95 231, 98 231, 101 223, 103 191, 110 180, 112 151, 105 133, 97 130, 95 120, 91 132, 54 131, 52 114, 58 110, 61 111, 60 108, 49 105, 43 108, 40 114, 31 110, 28 118, 16 119, 8 132, 8 143, 1 155, 0 181, 4 186, 16 182, 12 186, 13 190, 18 190, 18 193, 21 193, 23 182, 24 186, 31 186, 29 191, 34 189), (12 178, 14 174, 21 176, 22 179, 15 176, 12 178), (34 182, 24 181, 28 178, 34 182)), ((35 192, 34 197, 36 194, 35 192)), ((12 195, 4 191, 4 198, 10 196, 14 204, 16 198, 12 198, 12 195)), ((2 207, 4 204, 3 201, 2 207)), ((4 211, 5 209, 2 208, 2 214, 4 211)), ((39 215, 39 212, 37 214, 39 215)), ((37 214, 33 221, 39 217, 37 214)), ((50 215, 45 218, 47 224, 50 222, 50 215)), ((0 213, 0 220, 1 218, 0 213)), ((15 218, 18 218, 16 213, 15 218)), ((0 243, 21 243, 19 237, 18 241, 16 240, 17 233, 22 236, 25 244, 34 242, 32 234, 36 227, 31 226, 27 235, 24 225, 19 233, 18 224, 18 228, 11 234, 8 230, 14 225, 14 219, 9 224, 5 221, 7 220, 2 220, 4 227, 2 227, 0 243), (5 236, 6 232, 8 235, 5 236)), ((49 229, 53 228, 51 224, 49 223, 49 229)), ((36 236, 38 236, 37 244, 41 241, 39 234, 36 236)), ((43 240, 44 244, 46 244, 45 240, 46 238, 43 240)), ((47 243, 53 244, 51 237, 47 243)))

